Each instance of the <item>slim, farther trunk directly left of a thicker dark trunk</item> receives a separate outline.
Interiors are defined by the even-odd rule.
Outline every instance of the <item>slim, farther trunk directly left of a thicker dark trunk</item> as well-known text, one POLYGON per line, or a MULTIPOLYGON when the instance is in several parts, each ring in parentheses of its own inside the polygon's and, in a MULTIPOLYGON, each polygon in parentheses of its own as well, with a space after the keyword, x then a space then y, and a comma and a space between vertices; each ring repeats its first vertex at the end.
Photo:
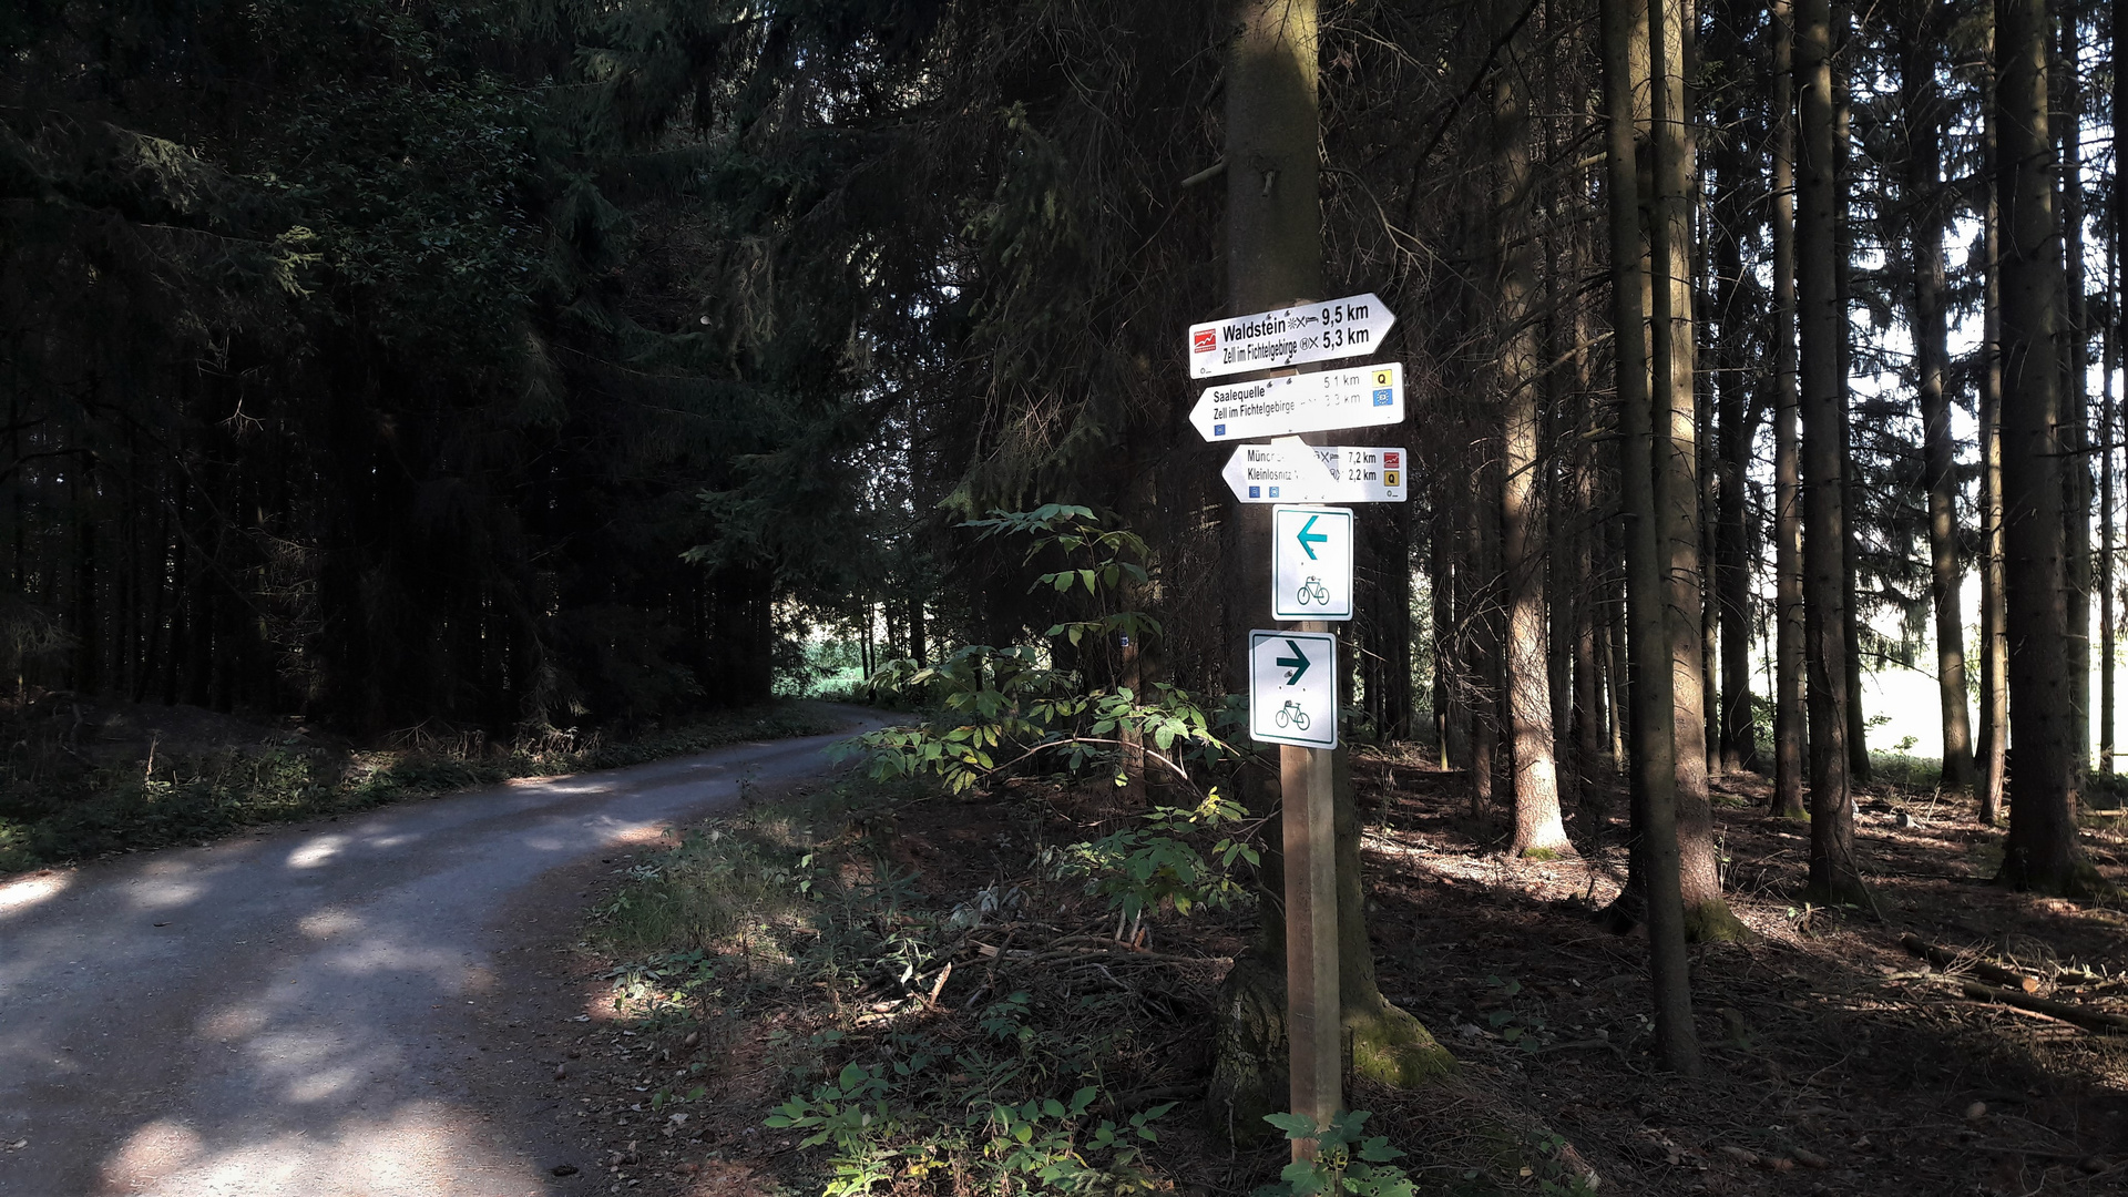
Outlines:
POLYGON ((1794 0, 1773 4, 1773 811, 1802 818, 1802 426, 1796 396, 1794 0))

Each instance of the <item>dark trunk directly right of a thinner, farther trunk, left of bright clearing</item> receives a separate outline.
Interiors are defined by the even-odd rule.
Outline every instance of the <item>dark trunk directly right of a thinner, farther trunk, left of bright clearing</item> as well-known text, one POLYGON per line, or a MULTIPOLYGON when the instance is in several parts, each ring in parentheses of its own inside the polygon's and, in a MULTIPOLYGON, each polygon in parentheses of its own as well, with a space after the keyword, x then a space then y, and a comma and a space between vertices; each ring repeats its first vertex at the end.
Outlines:
POLYGON ((1796 4, 1800 155, 1796 215, 1796 326, 1802 358, 1802 613, 1811 714, 1811 880, 1824 903, 1866 899, 1853 854, 1847 754, 1847 513, 1841 386, 1839 158, 1832 104, 1832 4, 1796 4))

